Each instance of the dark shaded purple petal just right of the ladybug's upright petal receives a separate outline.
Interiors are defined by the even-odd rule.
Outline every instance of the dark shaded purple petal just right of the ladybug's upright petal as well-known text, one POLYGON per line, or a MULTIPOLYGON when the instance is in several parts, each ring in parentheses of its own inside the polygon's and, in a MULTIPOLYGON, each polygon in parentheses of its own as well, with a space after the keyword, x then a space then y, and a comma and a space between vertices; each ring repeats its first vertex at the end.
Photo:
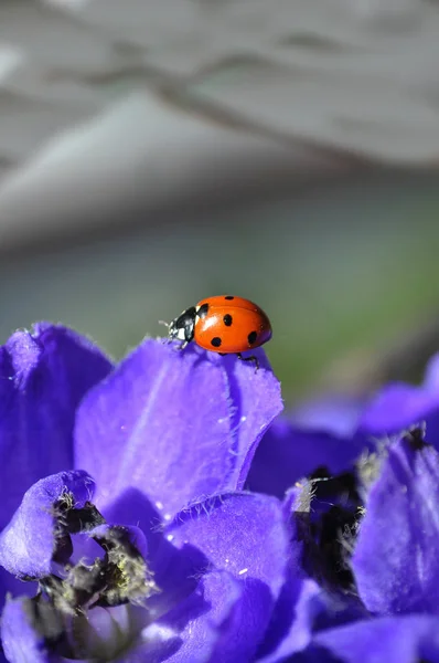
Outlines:
POLYGON ((363 452, 358 439, 323 431, 302 430, 277 419, 256 452, 247 485, 250 491, 283 497, 293 484, 315 470, 338 474, 353 466, 363 452))

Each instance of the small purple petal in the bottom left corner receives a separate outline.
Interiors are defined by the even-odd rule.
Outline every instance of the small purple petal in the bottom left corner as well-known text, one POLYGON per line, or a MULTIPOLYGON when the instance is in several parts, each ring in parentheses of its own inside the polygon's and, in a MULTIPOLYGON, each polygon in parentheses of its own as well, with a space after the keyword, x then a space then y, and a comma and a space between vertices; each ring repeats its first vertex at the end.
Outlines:
POLYGON ((47 651, 44 638, 33 628, 33 602, 9 599, 1 617, 1 641, 9 663, 61 663, 47 651))

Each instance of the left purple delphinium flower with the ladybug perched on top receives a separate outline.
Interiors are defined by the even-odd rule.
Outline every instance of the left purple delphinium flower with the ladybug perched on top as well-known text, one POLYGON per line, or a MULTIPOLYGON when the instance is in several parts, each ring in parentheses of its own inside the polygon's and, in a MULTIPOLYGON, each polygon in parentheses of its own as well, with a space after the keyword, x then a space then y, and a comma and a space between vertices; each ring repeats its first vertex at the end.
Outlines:
POLYGON ((242 491, 282 408, 259 361, 146 340, 114 369, 49 325, 2 348, 8 661, 247 661, 269 631, 277 645, 271 618, 304 578, 281 502, 242 491))

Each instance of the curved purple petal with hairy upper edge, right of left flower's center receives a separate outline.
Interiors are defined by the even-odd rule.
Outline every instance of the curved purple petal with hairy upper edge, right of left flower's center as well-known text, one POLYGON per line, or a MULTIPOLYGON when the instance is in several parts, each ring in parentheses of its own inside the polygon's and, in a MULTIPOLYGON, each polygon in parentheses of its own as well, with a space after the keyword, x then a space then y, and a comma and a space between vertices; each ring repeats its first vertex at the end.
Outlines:
MULTIPOLYGON (((281 504, 249 493, 221 495, 179 514, 167 534, 175 547, 189 545, 203 554, 200 572, 227 570, 240 582, 240 618, 227 641, 239 641, 239 660, 250 660, 287 576, 291 544, 281 504)), ((222 655, 218 660, 228 661, 229 650, 222 655)))

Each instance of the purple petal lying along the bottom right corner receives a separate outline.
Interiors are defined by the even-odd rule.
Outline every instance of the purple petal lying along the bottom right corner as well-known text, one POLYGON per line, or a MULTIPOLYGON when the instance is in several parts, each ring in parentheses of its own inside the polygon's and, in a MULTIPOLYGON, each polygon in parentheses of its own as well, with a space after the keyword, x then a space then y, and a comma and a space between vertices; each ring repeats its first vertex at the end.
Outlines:
POLYGON ((382 618, 321 631, 304 661, 333 662, 334 656, 343 663, 439 663, 439 620, 427 615, 382 618))

